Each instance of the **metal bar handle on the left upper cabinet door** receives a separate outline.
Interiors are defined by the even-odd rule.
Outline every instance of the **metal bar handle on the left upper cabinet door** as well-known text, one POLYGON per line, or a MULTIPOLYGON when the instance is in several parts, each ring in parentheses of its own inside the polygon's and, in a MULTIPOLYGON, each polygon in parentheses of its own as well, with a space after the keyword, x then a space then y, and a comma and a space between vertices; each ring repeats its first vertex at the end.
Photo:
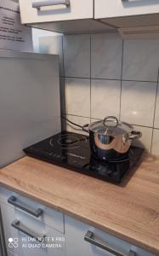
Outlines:
POLYGON ((33 2, 32 8, 40 9, 41 7, 45 7, 45 6, 60 5, 60 4, 65 4, 66 7, 68 7, 70 5, 70 0, 47 0, 47 1, 33 2))

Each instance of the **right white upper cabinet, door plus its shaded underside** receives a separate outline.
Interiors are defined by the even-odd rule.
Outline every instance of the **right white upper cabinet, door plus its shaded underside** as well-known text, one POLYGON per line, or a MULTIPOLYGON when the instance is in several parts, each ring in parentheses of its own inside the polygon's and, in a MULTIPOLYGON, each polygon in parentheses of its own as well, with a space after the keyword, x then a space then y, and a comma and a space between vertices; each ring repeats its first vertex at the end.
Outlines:
POLYGON ((94 0, 94 17, 111 26, 159 25, 159 0, 94 0))

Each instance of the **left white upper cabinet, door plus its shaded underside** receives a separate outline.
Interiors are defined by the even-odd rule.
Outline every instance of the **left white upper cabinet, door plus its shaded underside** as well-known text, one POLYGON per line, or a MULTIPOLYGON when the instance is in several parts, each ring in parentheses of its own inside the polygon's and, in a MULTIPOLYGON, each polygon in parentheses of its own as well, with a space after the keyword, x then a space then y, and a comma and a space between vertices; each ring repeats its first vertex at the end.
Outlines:
POLYGON ((94 0, 20 0, 21 22, 62 33, 113 30, 94 20, 94 0))

